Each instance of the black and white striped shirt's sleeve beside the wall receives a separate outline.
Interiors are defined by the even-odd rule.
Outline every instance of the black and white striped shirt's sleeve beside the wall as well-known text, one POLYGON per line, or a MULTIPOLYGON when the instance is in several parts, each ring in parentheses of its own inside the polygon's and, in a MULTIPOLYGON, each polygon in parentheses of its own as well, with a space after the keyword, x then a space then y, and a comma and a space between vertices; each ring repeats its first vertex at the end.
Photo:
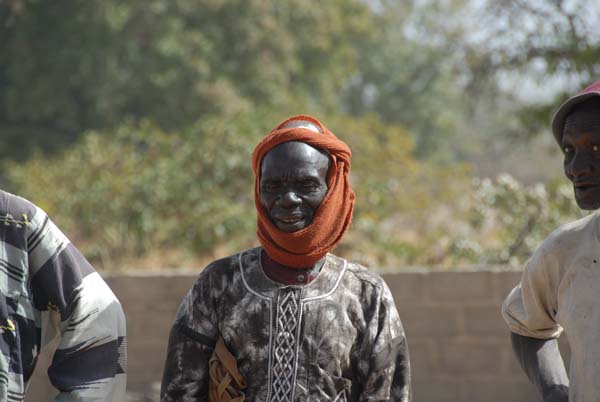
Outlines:
POLYGON ((100 275, 40 209, 29 225, 27 252, 41 346, 59 337, 48 369, 56 401, 125 399, 125 316, 100 275))

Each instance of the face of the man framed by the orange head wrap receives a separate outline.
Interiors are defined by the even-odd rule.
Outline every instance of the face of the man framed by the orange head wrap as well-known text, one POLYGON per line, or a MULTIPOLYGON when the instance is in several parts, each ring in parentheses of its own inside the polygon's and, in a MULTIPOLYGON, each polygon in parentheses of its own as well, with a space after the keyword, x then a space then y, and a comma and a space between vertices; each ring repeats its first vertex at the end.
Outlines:
POLYGON ((263 158, 260 205, 284 232, 311 224, 327 194, 329 157, 303 142, 285 142, 263 158))

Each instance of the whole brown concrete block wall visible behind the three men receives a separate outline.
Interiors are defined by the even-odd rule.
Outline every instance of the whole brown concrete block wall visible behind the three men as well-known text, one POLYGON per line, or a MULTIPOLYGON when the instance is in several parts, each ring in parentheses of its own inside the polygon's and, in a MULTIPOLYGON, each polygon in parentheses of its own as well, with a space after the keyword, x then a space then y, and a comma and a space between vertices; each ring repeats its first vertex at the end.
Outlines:
MULTIPOLYGON (((127 315, 128 402, 157 401, 170 326, 197 273, 107 276, 127 315)), ((540 400, 512 355, 500 305, 520 272, 501 267, 384 274, 405 327, 416 402, 540 400)), ((26 401, 50 401, 44 355, 26 401)))

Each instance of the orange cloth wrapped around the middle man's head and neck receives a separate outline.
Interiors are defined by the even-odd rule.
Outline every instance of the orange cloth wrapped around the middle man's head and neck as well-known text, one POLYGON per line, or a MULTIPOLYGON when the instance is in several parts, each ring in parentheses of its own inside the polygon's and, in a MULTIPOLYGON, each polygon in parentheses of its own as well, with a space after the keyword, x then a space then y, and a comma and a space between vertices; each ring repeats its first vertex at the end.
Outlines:
POLYGON ((348 230, 354 209, 354 192, 350 188, 350 148, 317 119, 299 115, 285 120, 256 146, 252 153, 255 174, 254 203, 258 210, 258 239, 265 251, 280 264, 306 268, 313 266, 335 247, 348 230), (292 121, 310 122, 321 132, 315 132, 292 121), (307 227, 287 233, 275 226, 260 205, 260 167, 264 156, 279 144, 300 141, 323 149, 329 154, 328 191, 307 227))

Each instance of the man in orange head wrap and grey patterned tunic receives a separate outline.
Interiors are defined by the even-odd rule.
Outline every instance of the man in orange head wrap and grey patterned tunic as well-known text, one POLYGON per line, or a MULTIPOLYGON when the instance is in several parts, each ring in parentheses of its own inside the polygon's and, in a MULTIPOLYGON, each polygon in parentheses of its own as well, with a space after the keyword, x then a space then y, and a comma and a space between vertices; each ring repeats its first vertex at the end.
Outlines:
POLYGON ((258 144, 262 247, 211 263, 184 298, 163 402, 208 401, 209 388, 213 402, 411 400, 406 338, 389 289, 329 253, 352 220, 350 155, 310 116, 287 119, 258 144), (225 369, 214 369, 216 360, 225 369))

